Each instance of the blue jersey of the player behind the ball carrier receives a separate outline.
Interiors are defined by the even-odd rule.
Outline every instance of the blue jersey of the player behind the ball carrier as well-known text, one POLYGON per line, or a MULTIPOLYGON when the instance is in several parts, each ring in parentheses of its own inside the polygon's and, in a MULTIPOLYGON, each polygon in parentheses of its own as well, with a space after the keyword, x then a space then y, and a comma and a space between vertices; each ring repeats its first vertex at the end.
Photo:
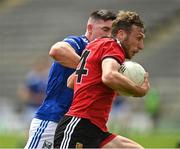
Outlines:
MULTIPOLYGON (((63 41, 69 43, 78 55, 82 54, 89 42, 84 35, 69 36, 63 41)), ((35 113, 35 118, 59 122, 64 116, 73 98, 73 90, 67 87, 67 79, 74 71, 56 61, 53 62, 48 76, 46 97, 35 113)))

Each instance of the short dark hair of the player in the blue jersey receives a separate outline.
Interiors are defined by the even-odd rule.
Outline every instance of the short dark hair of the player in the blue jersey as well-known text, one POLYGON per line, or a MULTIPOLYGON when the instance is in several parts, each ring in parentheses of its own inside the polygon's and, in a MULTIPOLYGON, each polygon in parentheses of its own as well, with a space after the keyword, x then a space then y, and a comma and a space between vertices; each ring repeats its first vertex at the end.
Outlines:
POLYGON ((116 19, 116 14, 106 10, 106 9, 101 9, 101 10, 96 10, 91 13, 90 18, 95 19, 95 20, 115 20, 116 19))

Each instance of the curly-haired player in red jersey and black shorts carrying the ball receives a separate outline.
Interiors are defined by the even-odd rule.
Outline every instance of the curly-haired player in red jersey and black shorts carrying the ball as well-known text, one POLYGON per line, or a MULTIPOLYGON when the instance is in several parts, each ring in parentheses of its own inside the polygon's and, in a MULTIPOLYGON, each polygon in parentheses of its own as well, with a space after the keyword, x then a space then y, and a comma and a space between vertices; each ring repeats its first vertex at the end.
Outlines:
POLYGON ((143 148, 108 132, 106 123, 117 90, 142 97, 150 88, 147 74, 137 86, 118 72, 125 58, 131 59, 144 48, 144 37, 139 15, 120 11, 112 25, 112 38, 98 38, 87 45, 72 76, 74 98, 56 129, 55 148, 143 148))

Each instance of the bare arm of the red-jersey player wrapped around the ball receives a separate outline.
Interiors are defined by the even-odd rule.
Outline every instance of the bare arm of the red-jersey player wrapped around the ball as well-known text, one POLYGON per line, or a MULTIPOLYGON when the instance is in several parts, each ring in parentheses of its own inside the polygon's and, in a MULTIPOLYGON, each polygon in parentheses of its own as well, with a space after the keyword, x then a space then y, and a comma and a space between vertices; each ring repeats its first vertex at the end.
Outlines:
POLYGON ((149 90, 148 76, 142 86, 137 86, 133 81, 118 72, 119 63, 112 58, 106 58, 102 62, 102 81, 115 91, 129 93, 135 97, 143 97, 149 90))

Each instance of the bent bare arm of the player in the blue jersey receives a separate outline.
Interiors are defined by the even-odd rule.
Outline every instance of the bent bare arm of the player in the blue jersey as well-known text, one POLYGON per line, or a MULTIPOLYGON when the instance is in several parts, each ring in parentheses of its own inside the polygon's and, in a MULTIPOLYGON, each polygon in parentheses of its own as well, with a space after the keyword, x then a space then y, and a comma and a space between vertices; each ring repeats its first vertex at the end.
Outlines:
POLYGON ((49 55, 61 65, 74 69, 80 61, 80 56, 76 54, 75 50, 63 41, 55 43, 51 47, 49 55))

